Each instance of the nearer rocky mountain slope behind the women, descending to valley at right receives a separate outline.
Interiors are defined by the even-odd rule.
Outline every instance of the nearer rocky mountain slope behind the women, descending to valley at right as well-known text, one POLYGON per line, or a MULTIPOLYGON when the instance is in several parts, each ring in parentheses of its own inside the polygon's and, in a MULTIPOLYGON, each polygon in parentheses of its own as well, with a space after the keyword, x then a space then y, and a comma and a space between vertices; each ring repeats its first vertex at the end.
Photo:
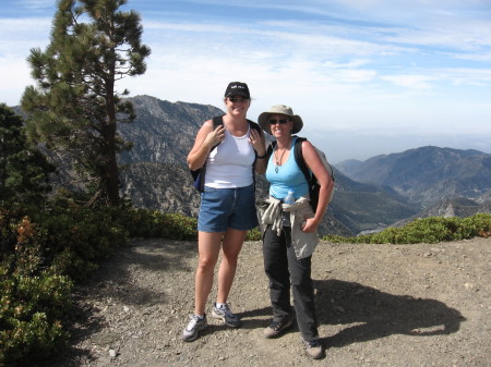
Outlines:
MULTIPOLYGON (((199 194, 192 187, 185 157, 202 123, 224 112, 213 106, 169 102, 151 96, 128 98, 136 114, 134 122, 119 126, 133 147, 121 155, 124 197, 136 207, 176 211, 195 217, 199 194)), ((321 233, 354 235, 388 225, 415 215, 419 207, 387 186, 360 184, 335 170, 336 186, 321 233)), ((256 178, 258 196, 267 185, 256 178)))

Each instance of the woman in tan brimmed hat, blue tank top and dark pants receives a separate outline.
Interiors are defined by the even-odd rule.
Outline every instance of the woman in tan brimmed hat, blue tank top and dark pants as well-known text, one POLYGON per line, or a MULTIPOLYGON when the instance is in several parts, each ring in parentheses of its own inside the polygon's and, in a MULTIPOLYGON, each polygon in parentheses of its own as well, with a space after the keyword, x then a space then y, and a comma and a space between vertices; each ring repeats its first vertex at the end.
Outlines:
POLYGON ((273 307, 273 322, 264 330, 264 335, 279 337, 292 325, 291 286, 306 351, 312 358, 321 358, 323 350, 318 334, 311 260, 318 244, 316 230, 334 182, 314 146, 292 135, 300 132, 303 122, 290 107, 273 106, 261 113, 258 122, 276 139, 273 148, 268 148, 267 168, 262 172, 271 184, 270 197, 260 205, 264 269, 273 307), (303 160, 321 185, 315 212, 310 205, 308 182, 294 154, 296 144, 301 144, 303 160), (290 195, 294 196, 291 203, 288 201, 290 195))

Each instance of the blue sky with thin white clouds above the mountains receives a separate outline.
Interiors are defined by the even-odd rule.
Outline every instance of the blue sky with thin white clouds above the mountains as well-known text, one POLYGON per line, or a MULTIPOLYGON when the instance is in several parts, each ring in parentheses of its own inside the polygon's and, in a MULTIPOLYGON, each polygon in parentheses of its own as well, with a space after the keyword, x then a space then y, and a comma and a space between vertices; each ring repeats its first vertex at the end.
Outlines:
MULTIPOLYGON (((0 102, 19 105, 26 58, 56 2, 2 0, 0 102)), ((248 83, 249 118, 292 107, 334 163, 427 145, 491 152, 491 0, 130 0, 152 49, 120 90, 223 108, 248 83)))

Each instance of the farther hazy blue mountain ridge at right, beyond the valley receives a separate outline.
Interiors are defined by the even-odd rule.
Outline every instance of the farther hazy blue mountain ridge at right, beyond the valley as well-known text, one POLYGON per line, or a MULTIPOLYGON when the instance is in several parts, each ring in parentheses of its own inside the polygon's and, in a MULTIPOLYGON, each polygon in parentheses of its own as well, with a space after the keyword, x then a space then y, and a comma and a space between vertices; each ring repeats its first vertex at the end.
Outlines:
POLYGON ((391 186, 427 208, 456 197, 491 200, 491 155, 478 150, 428 146, 336 167, 352 180, 391 186))

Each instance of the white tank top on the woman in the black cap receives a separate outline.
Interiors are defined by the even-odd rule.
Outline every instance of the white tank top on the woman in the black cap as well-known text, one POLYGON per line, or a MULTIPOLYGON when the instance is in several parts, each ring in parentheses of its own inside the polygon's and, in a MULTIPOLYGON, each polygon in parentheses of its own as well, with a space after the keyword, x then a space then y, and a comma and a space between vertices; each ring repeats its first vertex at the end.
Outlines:
POLYGON ((246 187, 253 183, 254 149, 249 133, 233 136, 225 131, 225 139, 208 155, 205 186, 214 188, 246 187))

